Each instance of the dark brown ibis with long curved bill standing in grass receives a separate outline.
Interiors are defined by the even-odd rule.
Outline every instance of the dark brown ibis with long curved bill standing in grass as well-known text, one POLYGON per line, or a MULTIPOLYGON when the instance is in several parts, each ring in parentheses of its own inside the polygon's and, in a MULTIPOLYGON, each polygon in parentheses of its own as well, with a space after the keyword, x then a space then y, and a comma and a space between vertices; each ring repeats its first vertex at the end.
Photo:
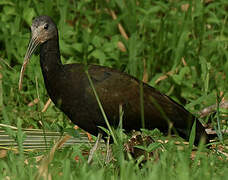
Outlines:
POLYGON ((108 123, 113 128, 119 125, 121 106, 122 128, 126 132, 157 128, 166 134, 171 124, 179 136, 189 140, 195 122, 194 144, 198 145, 202 137, 208 142, 205 128, 193 114, 141 80, 100 65, 62 64, 58 28, 52 18, 46 15, 38 16, 32 22, 31 39, 21 68, 19 89, 22 88, 25 67, 38 46, 40 66, 49 97, 81 129, 95 136, 106 136, 100 128, 108 126, 96 98, 97 94, 108 123))

